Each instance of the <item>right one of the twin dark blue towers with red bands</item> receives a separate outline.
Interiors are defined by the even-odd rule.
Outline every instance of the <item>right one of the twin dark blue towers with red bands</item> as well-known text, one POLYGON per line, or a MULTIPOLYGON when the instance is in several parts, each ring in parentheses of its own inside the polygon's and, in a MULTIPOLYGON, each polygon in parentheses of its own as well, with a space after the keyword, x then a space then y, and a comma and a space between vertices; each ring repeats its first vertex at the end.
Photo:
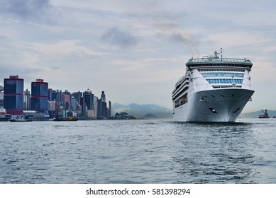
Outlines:
POLYGON ((38 112, 48 110, 48 83, 43 79, 31 83, 31 109, 38 112))

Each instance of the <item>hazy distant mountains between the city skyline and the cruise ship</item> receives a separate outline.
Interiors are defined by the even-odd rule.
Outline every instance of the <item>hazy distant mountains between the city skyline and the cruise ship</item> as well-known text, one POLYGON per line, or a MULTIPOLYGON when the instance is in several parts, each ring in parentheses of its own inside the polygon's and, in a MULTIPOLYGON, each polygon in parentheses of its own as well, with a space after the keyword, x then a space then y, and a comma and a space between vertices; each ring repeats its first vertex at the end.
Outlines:
POLYGON ((139 105, 136 103, 131 103, 129 105, 121 105, 118 103, 114 103, 112 105, 112 115, 115 115, 116 112, 127 112, 128 115, 143 117, 145 117, 145 115, 151 115, 151 117, 160 118, 172 117, 172 110, 162 107, 160 105, 153 104, 139 105))

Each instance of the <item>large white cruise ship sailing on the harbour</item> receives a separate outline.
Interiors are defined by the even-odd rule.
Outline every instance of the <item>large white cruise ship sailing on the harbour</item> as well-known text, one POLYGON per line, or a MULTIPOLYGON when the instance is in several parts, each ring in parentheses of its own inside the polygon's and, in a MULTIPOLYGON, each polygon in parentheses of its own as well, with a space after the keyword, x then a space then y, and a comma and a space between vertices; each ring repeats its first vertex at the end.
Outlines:
MULTIPOLYGON (((221 56, 219 57, 219 54, 221 56)), ((186 74, 172 91, 176 122, 235 122, 251 100, 248 59, 210 57, 189 59, 186 74)))

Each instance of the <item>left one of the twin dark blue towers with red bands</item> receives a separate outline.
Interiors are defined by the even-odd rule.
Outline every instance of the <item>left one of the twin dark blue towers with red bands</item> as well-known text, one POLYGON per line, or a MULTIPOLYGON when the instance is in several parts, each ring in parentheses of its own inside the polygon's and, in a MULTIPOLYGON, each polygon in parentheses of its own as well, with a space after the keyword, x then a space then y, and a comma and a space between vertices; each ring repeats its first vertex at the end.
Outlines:
POLYGON ((4 108, 11 115, 23 115, 24 80, 16 76, 4 78, 4 108))

